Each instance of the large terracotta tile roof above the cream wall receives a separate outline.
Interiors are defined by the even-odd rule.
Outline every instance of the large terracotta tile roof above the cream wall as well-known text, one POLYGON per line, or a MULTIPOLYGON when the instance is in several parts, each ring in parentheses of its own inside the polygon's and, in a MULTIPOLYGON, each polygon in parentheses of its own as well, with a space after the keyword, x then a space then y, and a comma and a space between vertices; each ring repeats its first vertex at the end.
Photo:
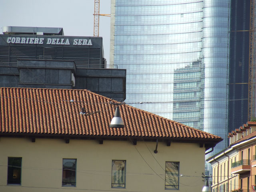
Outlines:
POLYGON ((222 140, 127 104, 120 105, 125 127, 110 128, 115 106, 109 98, 88 90, 0 88, 0 100, 0 134, 222 140), (79 114, 82 107, 89 115, 79 114))

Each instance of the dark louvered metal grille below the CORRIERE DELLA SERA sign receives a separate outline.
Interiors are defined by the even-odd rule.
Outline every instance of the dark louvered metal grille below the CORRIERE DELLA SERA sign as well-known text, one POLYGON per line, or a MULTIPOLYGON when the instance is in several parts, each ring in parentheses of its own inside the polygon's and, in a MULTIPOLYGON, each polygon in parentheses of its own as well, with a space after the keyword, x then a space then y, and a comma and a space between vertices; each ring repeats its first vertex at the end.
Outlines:
POLYGON ((0 46, 1 66, 17 66, 18 59, 72 60, 77 68, 104 68, 100 48, 0 46))

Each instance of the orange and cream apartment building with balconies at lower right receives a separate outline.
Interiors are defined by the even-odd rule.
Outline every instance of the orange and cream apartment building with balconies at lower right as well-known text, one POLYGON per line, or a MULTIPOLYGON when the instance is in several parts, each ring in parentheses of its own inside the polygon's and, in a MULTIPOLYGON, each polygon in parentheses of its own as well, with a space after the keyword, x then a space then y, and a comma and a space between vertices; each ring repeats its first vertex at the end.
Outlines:
POLYGON ((207 159, 212 165, 212 191, 252 192, 256 186, 256 122, 229 133, 229 147, 207 159))

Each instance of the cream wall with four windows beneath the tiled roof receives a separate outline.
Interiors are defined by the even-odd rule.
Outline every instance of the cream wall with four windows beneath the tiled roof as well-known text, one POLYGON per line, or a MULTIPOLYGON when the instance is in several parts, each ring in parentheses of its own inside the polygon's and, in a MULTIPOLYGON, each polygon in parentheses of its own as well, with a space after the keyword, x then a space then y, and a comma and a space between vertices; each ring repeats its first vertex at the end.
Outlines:
POLYGON ((201 191, 204 182, 204 148, 199 144, 128 141, 36 139, 0 139, 0 191, 59 192, 65 191, 141 191, 164 190, 165 162, 180 162, 180 190, 201 191), (146 145, 145 145, 146 144, 146 145), (136 148, 137 150, 136 150, 136 148), (149 150, 148 150, 148 148, 149 150), (146 160, 146 164, 141 156, 146 160), (150 153, 151 152, 151 153, 150 153), (153 157, 154 156, 154 157, 153 157), (22 157, 21 186, 6 185, 8 157, 22 157), (77 159, 76 187, 62 187, 62 158, 77 159), (155 158, 155 159, 154 159, 155 158), (112 160, 126 160, 126 188, 111 188, 112 160), (159 164, 160 165, 159 165, 159 164), (160 167, 161 166, 161 167, 160 167))

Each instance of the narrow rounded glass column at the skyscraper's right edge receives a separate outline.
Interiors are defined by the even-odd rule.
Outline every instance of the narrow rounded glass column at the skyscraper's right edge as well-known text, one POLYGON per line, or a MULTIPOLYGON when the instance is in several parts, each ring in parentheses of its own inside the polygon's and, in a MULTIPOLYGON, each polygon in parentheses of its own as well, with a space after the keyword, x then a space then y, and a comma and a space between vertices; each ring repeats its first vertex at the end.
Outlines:
POLYGON ((204 131, 224 138, 215 153, 227 147, 230 0, 204 0, 203 13, 204 131))

